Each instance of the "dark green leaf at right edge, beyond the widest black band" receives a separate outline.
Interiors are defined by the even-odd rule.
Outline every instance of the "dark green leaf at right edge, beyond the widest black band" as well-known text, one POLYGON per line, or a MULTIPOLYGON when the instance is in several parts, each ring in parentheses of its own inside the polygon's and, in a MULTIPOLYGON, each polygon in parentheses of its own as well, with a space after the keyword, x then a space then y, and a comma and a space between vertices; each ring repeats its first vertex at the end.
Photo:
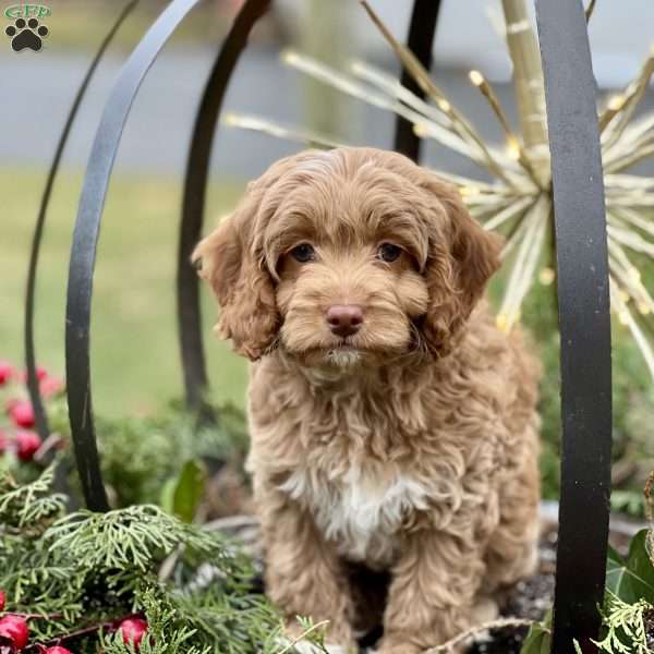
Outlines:
POLYGON ((626 559, 613 547, 608 548, 606 588, 627 604, 641 598, 654 603, 654 566, 647 552, 647 530, 633 536, 626 559))

